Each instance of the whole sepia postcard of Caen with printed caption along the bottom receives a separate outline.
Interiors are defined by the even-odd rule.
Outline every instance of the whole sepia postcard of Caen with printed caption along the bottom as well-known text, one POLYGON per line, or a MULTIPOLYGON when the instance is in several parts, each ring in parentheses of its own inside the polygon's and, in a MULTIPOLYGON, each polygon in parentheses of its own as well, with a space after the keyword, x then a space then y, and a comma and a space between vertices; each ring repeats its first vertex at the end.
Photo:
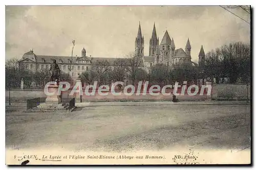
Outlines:
POLYGON ((251 164, 251 6, 6 6, 7 165, 251 164))

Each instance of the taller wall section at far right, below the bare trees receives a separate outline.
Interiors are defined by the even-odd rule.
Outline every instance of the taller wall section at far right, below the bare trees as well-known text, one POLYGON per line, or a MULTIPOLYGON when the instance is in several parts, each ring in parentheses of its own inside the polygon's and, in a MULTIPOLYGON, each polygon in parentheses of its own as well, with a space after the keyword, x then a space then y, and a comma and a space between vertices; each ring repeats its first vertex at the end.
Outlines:
MULTIPOLYGON (((246 84, 214 84, 212 85, 212 100, 247 100, 246 84)), ((250 100, 250 85, 248 85, 250 100)))

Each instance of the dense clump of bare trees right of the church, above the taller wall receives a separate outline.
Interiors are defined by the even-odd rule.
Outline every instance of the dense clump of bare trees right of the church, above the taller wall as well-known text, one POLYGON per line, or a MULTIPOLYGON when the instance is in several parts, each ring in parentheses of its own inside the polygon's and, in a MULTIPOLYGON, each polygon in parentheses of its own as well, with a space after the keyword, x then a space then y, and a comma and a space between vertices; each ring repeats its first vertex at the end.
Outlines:
POLYGON ((211 79, 229 78, 230 83, 250 79, 250 45, 243 42, 223 45, 205 56, 205 74, 211 79))

